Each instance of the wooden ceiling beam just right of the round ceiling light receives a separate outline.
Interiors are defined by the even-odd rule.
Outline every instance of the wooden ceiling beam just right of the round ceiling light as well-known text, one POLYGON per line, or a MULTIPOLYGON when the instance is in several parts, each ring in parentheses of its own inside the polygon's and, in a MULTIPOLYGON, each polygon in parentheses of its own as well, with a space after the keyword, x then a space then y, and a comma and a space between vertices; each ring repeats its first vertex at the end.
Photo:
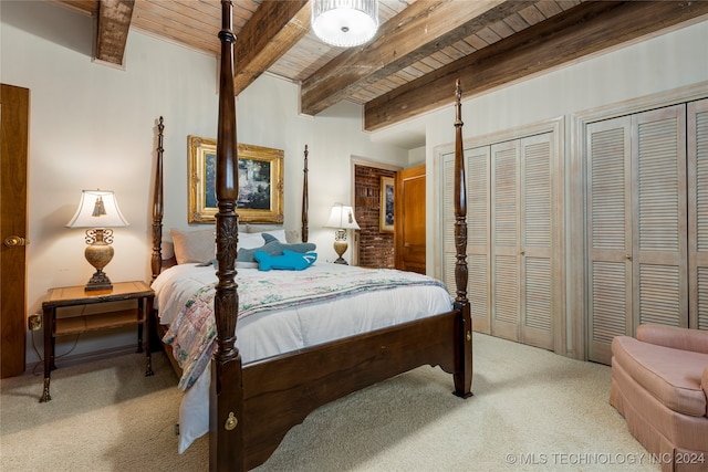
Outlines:
POLYGON ((305 78, 302 113, 316 115, 535 1, 417 1, 381 27, 376 38, 350 49, 305 78))

